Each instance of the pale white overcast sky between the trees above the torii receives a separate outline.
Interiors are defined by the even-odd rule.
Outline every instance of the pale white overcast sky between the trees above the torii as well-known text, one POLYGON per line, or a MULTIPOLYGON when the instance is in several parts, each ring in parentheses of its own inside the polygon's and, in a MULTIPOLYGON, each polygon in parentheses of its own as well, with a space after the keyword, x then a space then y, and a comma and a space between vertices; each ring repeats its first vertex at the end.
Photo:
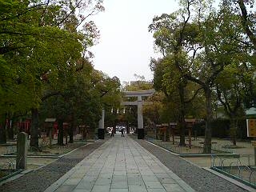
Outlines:
POLYGON ((177 0, 104 0, 105 12, 94 16, 101 38, 91 50, 94 68, 121 82, 151 80, 150 57, 155 57, 153 34, 148 26, 155 15, 178 9, 177 0))

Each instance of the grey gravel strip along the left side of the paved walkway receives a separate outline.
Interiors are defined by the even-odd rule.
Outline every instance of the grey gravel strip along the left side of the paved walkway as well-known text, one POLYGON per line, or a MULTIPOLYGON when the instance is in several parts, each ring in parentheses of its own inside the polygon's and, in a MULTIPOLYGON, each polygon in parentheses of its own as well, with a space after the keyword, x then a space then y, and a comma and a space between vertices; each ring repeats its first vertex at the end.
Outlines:
POLYGON ((83 158, 91 154, 95 149, 102 145, 104 141, 98 140, 93 144, 83 146, 73 153, 58 159, 55 162, 42 167, 39 170, 34 170, 28 174, 25 174, 21 178, 14 181, 7 182, 0 186, 1 192, 41 192, 46 190, 48 186, 53 184, 66 174, 71 168, 73 168, 78 162, 81 162, 83 158))

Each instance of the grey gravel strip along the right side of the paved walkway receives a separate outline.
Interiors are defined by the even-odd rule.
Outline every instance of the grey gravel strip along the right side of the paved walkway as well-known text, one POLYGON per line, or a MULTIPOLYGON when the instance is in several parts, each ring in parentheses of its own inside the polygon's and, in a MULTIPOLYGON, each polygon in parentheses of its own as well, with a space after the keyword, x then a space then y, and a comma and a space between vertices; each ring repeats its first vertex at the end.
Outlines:
POLYGON ((198 166, 194 166, 190 162, 186 162, 182 158, 174 154, 170 154, 165 150, 160 149, 158 146, 153 146, 144 140, 134 139, 138 144, 144 147, 146 150, 154 154, 165 166, 182 178, 196 191, 207 192, 242 192, 247 191, 234 185, 231 182, 226 181, 223 178, 219 178, 215 174, 203 170, 198 166))

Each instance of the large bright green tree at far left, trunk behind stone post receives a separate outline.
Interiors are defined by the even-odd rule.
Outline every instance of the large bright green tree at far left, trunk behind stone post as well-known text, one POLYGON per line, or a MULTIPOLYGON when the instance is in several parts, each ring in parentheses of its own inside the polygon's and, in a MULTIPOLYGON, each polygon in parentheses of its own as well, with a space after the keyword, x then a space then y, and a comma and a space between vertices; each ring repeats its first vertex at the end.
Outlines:
POLYGON ((30 103, 18 110, 31 109, 31 146, 38 147, 38 106, 42 98, 47 98, 42 93, 43 80, 47 76, 58 78, 58 70, 74 66, 78 58, 81 58, 81 53, 86 57, 86 49, 93 45, 98 31, 93 22, 85 21, 90 15, 103 10, 101 3, 0 2, 0 60, 4 64, 0 70, 6 74, 0 82, 0 93, 10 96, 18 94, 11 98, 19 100, 13 99, 10 103, 3 101, 4 106, 12 103, 18 106, 16 103, 21 103, 20 98, 23 98, 23 103, 30 103), (86 10, 89 10, 88 14, 85 14, 86 10), (78 26, 83 32, 78 30, 78 26), (24 93, 27 95, 22 97, 24 93))

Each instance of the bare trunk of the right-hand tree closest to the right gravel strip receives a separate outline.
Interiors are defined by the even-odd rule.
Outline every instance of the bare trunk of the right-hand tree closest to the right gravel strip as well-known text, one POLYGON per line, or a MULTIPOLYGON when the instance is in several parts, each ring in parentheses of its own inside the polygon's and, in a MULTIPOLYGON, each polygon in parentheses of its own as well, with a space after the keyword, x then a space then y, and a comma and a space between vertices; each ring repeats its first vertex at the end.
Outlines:
POLYGON ((211 124, 213 121, 213 111, 211 104, 211 90, 210 87, 204 89, 206 97, 206 132, 205 132, 205 142, 203 146, 203 153, 211 153, 211 124))

